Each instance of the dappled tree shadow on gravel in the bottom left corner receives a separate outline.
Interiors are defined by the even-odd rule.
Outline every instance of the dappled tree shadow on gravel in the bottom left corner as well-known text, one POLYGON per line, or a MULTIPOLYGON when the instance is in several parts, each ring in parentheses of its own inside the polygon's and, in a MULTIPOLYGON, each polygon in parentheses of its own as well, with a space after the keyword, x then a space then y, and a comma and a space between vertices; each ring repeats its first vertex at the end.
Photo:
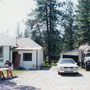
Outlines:
POLYGON ((41 90, 32 86, 17 85, 17 83, 10 80, 0 81, 0 90, 41 90))

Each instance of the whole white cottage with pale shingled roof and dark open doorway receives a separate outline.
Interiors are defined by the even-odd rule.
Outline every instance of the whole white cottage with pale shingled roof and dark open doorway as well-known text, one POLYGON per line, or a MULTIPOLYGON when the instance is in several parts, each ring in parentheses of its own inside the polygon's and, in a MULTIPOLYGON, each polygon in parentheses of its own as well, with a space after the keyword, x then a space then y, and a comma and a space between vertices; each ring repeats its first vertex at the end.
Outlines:
POLYGON ((29 38, 15 39, 0 34, 0 66, 10 60, 15 68, 40 68, 43 63, 43 48, 29 38))

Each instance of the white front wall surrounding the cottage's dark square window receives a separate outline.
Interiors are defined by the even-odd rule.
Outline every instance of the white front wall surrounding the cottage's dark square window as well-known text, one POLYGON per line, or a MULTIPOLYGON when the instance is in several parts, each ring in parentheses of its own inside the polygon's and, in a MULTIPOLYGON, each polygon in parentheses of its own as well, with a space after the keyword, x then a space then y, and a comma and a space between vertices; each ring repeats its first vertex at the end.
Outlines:
POLYGON ((20 67, 25 69, 36 69, 36 51, 18 51, 21 54, 20 67), (32 61, 23 61, 23 53, 32 53, 32 61), (35 68, 33 68, 35 65, 35 68))

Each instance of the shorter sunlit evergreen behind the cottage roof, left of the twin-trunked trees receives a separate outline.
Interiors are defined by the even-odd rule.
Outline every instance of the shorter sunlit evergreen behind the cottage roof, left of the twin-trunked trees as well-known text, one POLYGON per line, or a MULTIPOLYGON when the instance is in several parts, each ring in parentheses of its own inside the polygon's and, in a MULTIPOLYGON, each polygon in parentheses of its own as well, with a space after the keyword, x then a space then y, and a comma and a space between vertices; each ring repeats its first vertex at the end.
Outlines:
MULTIPOLYGON (((37 11, 37 10, 36 10, 37 11)), ((24 32, 25 37, 30 37, 36 43, 43 46, 43 35, 42 30, 44 29, 44 25, 37 17, 37 12, 30 13, 28 15, 28 20, 26 21, 26 30, 24 32)))

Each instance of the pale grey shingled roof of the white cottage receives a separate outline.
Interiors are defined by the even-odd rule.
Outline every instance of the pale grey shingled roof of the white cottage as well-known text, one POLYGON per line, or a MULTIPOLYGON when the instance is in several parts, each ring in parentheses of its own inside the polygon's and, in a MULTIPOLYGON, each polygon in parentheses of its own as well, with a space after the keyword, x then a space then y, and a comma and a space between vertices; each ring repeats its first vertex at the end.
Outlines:
POLYGON ((15 37, 10 37, 6 34, 0 34, 0 46, 13 46, 17 47, 16 49, 32 49, 32 50, 38 50, 42 49, 42 47, 35 43, 30 38, 19 38, 16 39, 15 37))

